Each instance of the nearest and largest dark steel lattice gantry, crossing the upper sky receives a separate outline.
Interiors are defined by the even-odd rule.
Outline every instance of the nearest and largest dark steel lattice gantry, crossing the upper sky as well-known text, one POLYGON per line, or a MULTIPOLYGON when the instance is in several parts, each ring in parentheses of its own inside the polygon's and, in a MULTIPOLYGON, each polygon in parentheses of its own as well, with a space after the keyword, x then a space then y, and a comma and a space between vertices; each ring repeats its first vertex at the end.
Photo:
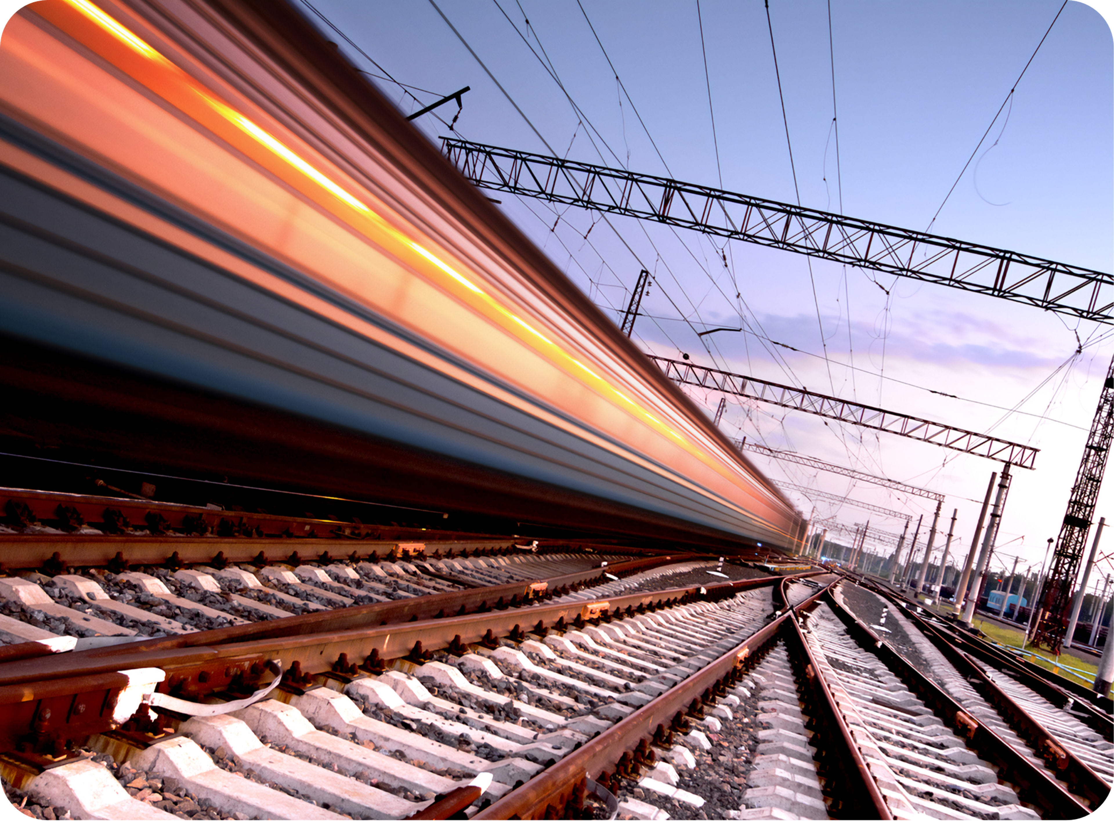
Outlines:
POLYGON ((1114 324, 1114 276, 667 177, 442 137, 473 184, 652 219, 1114 324))

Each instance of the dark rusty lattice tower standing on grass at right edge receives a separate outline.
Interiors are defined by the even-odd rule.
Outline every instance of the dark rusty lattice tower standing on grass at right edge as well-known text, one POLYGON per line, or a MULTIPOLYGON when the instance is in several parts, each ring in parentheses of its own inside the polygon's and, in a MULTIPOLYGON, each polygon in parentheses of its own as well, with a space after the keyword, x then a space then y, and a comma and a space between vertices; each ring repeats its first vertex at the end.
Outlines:
POLYGON ((1106 470, 1111 440, 1114 439, 1114 360, 1111 360, 1098 409, 1091 423, 1087 444, 1083 449, 1079 471, 1075 475, 1072 497, 1067 502, 1067 514, 1056 539, 1052 569, 1045 579, 1037 600, 1040 610, 1033 625, 1030 641, 1045 645, 1053 653, 1059 651, 1067 629, 1067 613, 1072 605, 1072 588, 1079 573, 1079 563, 1091 531, 1091 519, 1098 499, 1098 489, 1106 470))

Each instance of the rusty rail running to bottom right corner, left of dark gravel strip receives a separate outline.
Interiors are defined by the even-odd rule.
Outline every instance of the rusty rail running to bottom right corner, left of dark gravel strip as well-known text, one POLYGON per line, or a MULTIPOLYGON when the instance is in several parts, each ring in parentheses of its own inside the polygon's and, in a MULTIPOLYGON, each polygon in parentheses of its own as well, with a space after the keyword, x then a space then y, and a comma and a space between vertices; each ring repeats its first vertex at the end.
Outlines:
POLYGON ((917 669, 905 656, 870 629, 834 596, 828 596, 832 612, 843 622, 849 635, 860 645, 876 654, 902 683, 915 692, 926 706, 947 726, 966 736, 969 746, 980 758, 999 768, 999 776, 1016 784, 1018 794, 1029 803, 1039 807, 1045 819, 1088 819, 1091 810, 1064 784, 1026 759, 976 716, 967 712, 959 702, 944 691, 936 682, 917 669))

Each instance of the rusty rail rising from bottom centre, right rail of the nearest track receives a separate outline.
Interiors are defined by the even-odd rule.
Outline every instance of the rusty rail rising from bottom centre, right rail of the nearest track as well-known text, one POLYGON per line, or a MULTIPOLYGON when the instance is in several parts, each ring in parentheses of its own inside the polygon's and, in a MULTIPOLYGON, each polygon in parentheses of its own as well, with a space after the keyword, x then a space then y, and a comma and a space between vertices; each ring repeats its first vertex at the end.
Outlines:
MULTIPOLYGON (((818 599, 825 589, 822 588, 798 607, 818 599)), ((783 596, 783 592, 780 595, 783 596)), ((722 685, 725 678, 737 675, 746 658, 756 655, 766 643, 778 636, 790 618, 791 612, 783 612, 773 622, 685 681, 605 730, 579 750, 569 753, 486 810, 476 813, 471 821, 508 821, 515 818, 518 821, 543 821, 548 817, 547 812, 550 814, 556 812, 560 818, 565 805, 580 789, 586 776, 598 774, 596 781, 609 783, 614 778, 613 769, 635 769, 639 758, 645 759, 648 752, 647 740, 664 741, 671 727, 684 723, 686 710, 698 707, 702 701, 710 701, 713 691, 722 685)))

